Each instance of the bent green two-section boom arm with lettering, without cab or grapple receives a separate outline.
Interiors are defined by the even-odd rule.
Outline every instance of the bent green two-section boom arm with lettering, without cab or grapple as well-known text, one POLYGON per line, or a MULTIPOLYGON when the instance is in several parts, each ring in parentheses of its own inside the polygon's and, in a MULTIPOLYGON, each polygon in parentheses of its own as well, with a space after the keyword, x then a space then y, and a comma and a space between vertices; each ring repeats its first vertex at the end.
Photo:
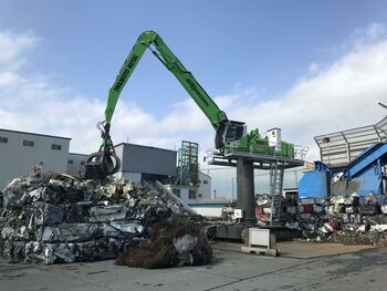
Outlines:
POLYGON ((198 104, 207 118, 212 124, 216 131, 222 124, 228 122, 227 115, 218 105, 211 100, 206 91, 196 81, 194 75, 186 70, 182 63, 169 50, 167 44, 154 31, 146 31, 139 35, 137 42, 133 46, 129 55, 125 60, 119 73, 108 91, 108 100, 105 111, 106 125, 109 126, 115 106, 117 104, 121 92, 123 91, 127 80, 130 77, 133 71, 142 59, 145 50, 149 48, 156 58, 177 77, 181 85, 187 90, 188 94, 198 104), (156 49, 154 50, 153 46, 156 49))

